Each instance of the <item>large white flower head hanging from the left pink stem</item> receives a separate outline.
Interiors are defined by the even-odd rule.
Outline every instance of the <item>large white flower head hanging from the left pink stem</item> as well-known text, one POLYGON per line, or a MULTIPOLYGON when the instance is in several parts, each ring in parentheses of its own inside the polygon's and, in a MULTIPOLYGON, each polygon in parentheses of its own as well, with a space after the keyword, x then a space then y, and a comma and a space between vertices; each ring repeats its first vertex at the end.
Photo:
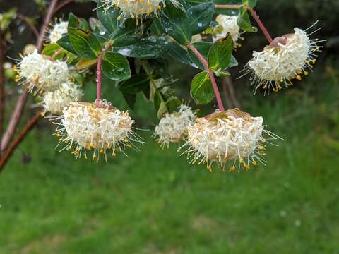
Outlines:
MULTIPOLYGON (((58 118, 55 118, 58 119, 58 118)), ((100 155, 107 161, 107 151, 112 156, 132 147, 131 141, 141 142, 132 131, 134 121, 128 111, 115 109, 105 101, 72 102, 59 116, 56 135, 60 142, 67 143, 62 150, 72 150, 76 157, 83 154, 87 158, 87 150, 93 150, 93 161, 98 162, 100 155)))

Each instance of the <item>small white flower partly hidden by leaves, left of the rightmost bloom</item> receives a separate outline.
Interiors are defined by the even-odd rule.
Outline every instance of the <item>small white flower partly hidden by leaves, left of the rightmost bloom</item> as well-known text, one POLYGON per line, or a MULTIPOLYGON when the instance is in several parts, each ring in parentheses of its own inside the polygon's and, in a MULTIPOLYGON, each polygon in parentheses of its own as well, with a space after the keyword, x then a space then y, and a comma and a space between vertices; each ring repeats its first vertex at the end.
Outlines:
POLYGON ((240 28, 237 24, 237 16, 219 14, 217 18, 215 18, 215 21, 219 23, 219 26, 213 33, 213 39, 222 39, 225 38, 227 34, 230 34, 234 42, 234 47, 240 47, 241 44, 237 43, 237 41, 242 39, 242 37, 240 37, 240 28))

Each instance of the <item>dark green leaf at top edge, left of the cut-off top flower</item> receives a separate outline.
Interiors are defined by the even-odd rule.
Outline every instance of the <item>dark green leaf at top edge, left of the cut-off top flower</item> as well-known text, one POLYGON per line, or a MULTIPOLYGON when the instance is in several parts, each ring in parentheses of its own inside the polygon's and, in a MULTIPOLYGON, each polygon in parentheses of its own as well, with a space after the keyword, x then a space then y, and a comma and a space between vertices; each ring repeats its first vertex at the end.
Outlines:
POLYGON ((118 8, 108 8, 104 10, 105 4, 103 1, 97 1, 97 18, 101 21, 104 28, 107 29, 109 33, 114 32, 118 28, 118 17, 119 9, 118 8))

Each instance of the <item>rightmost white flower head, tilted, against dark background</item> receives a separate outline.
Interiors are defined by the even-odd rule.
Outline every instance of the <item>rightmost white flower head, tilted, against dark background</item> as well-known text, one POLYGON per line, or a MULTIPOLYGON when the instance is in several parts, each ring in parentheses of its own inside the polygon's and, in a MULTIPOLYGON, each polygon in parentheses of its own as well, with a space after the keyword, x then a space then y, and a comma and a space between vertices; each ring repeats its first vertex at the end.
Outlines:
POLYGON ((262 87, 278 92, 292 85, 292 80, 302 80, 316 63, 316 52, 320 51, 318 39, 310 39, 307 30, 295 28, 295 33, 277 37, 261 52, 253 52, 245 66, 246 73, 251 73, 254 89, 262 87))

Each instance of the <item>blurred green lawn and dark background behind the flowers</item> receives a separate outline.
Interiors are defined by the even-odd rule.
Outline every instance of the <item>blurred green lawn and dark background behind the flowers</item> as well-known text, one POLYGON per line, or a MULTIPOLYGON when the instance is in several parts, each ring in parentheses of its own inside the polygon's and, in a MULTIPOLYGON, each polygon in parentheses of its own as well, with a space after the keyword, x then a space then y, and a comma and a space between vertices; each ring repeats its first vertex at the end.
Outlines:
MULTIPOLYGON (((176 145, 160 150, 150 138, 153 104, 142 98, 131 114, 150 129, 139 131, 145 145, 108 164, 54 150, 54 126, 42 120, 0 175, 0 253, 339 253, 339 47, 329 27, 338 21, 330 13, 335 4, 258 1, 273 35, 320 18, 324 28, 316 36, 332 43, 314 73, 278 94, 253 96, 247 78, 234 80, 242 107, 285 139, 268 147, 266 167, 209 173, 191 167, 176 145)), ((90 4, 78 6, 64 13, 91 14, 90 4)), ((265 43, 259 32, 245 37, 233 77, 265 43)), ((172 63, 176 88, 187 97, 194 70, 182 69, 172 63)), ((85 86, 85 99, 93 100, 94 89, 85 86)), ((128 109, 112 85, 104 89, 108 100, 128 109)))

